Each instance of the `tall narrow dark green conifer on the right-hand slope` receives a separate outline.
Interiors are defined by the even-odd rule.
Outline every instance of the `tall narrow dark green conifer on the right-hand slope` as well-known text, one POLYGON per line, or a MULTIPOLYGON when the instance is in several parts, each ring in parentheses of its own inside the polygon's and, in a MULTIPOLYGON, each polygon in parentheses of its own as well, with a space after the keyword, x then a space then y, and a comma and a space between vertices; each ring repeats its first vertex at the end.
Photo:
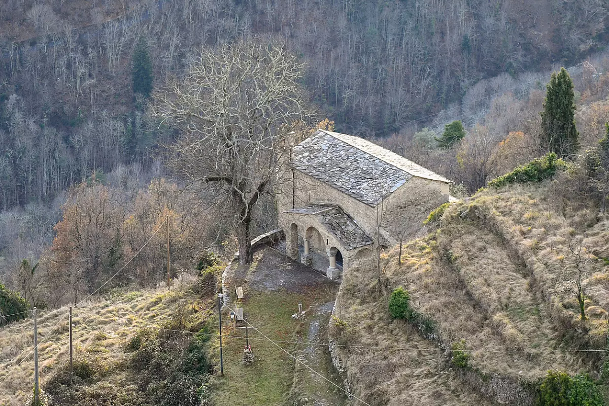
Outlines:
POLYGON ((541 144, 560 158, 574 154, 579 148, 575 125, 575 93, 569 72, 561 68, 547 84, 546 100, 541 114, 541 144))

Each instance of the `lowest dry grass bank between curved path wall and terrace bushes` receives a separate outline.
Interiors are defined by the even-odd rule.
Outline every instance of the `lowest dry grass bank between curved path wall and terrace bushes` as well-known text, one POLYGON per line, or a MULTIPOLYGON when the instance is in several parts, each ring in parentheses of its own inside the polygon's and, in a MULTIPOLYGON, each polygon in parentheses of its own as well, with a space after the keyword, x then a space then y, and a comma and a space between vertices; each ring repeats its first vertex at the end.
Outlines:
POLYGON ((336 312, 348 325, 337 338, 339 343, 403 348, 337 349, 357 397, 389 406, 491 404, 463 385, 441 349, 409 323, 389 317, 387 298, 367 271, 355 269, 345 275, 336 312))

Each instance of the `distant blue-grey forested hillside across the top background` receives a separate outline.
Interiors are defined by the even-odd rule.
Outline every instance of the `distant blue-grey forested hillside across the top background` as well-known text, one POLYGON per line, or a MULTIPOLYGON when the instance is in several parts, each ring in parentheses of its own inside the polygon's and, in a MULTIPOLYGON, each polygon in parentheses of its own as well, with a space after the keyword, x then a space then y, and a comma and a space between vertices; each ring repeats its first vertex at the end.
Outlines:
POLYGON ((525 71, 603 49, 606 15, 593 0, 8 0, 0 5, 0 208, 47 203, 93 170, 153 165, 172 133, 134 102, 141 37, 157 89, 200 46, 281 38, 307 64, 306 88, 337 130, 386 136, 504 91, 525 71))

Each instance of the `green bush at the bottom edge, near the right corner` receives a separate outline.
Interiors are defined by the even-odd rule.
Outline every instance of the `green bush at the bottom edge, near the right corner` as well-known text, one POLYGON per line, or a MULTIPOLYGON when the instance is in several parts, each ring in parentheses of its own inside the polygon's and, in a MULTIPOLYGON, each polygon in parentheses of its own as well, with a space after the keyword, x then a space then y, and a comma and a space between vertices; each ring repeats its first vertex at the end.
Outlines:
POLYGON ((574 377, 561 371, 548 371, 541 381, 537 406, 604 406, 605 402, 589 377, 574 377))

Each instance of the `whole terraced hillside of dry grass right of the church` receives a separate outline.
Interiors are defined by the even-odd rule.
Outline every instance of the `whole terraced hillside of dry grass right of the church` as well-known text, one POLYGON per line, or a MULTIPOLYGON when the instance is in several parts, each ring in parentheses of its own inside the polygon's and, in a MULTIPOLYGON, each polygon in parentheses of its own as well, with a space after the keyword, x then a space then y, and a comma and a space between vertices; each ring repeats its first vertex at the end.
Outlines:
POLYGON ((374 405, 532 405, 550 369, 598 379, 609 220, 557 201, 549 183, 481 192, 408 243, 401 265, 397 249, 384 256, 380 278, 345 276, 334 338, 351 389, 374 405), (578 268, 586 320, 572 283, 578 268), (400 286, 410 321, 387 310, 400 286), (466 365, 454 362, 462 354, 466 365))

